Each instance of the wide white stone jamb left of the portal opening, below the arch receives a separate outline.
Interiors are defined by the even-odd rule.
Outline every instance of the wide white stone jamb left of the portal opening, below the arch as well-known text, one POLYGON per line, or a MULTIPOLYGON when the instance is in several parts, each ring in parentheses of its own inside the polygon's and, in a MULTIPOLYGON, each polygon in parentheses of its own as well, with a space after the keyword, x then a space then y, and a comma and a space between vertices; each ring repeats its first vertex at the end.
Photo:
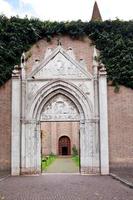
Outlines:
POLYGON ((21 174, 36 174, 41 172, 41 134, 40 124, 35 120, 25 122, 25 151, 21 174))

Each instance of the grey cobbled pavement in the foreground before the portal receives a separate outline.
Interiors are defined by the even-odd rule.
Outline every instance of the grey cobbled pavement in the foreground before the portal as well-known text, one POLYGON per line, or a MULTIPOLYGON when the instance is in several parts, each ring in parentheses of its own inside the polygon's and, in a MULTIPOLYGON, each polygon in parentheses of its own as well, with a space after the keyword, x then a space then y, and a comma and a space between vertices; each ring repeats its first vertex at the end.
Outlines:
POLYGON ((40 175, 0 182, 3 200, 133 200, 133 189, 109 176, 40 175))

